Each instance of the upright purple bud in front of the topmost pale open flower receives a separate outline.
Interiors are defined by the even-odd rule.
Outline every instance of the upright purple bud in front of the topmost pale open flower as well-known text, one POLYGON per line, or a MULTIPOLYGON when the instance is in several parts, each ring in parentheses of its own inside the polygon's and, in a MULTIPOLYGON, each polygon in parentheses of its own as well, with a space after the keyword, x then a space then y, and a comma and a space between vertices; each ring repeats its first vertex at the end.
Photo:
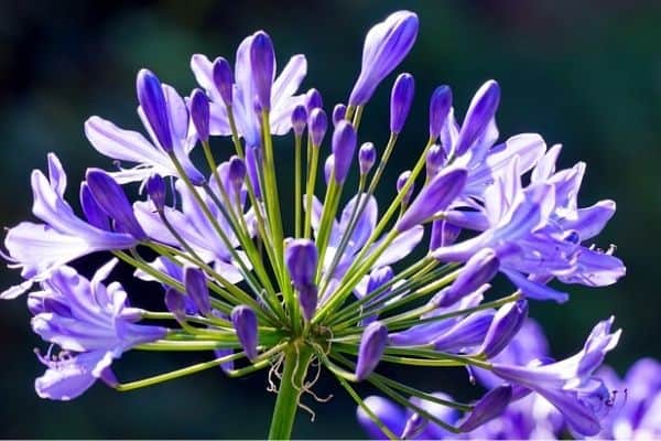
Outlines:
POLYGON ((261 110, 271 110, 271 87, 275 73, 275 53, 273 42, 264 31, 252 35, 250 44, 250 67, 257 103, 261 110))

